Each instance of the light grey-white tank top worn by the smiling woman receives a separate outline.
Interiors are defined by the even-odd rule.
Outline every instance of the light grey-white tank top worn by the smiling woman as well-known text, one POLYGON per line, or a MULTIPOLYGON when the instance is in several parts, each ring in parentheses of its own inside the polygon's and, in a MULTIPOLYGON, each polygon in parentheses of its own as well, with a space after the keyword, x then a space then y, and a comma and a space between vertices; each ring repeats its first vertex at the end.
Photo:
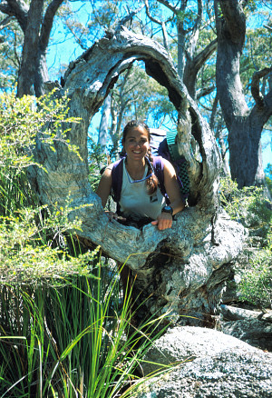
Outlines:
MULTIPOLYGON (((148 166, 145 166, 144 178, 147 175, 148 166)), ((158 187, 152 195, 146 192, 146 180, 140 183, 130 183, 133 181, 128 175, 125 164, 122 172, 120 208, 124 215, 131 215, 132 218, 150 217, 156 220, 161 213, 161 208, 165 204, 165 197, 161 194, 158 187), (129 179, 130 178, 130 179, 129 179)))

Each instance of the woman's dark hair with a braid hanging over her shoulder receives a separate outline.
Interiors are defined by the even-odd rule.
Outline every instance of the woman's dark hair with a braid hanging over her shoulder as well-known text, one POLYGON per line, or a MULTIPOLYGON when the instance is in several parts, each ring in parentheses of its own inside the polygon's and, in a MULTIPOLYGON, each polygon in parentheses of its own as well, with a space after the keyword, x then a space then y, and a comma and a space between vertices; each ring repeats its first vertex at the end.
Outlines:
MULTIPOLYGON (((151 143, 151 131, 150 131, 149 126, 146 123, 141 122, 141 120, 131 120, 131 122, 129 122, 128 124, 125 125, 125 127, 124 127, 124 129, 122 131, 122 138, 121 138, 121 144, 122 145, 125 142, 125 139, 126 139, 126 136, 127 136, 128 132, 133 127, 142 127, 142 128, 144 128, 147 131, 147 133, 148 133, 149 143, 151 143)), ((148 174, 152 173, 151 165, 153 167, 153 156, 151 154, 151 149, 149 149, 147 155, 148 155, 149 161, 151 163, 150 164, 149 162, 147 162, 147 164, 148 164, 147 175, 148 175, 148 174)), ((146 186, 147 186, 146 192, 147 192, 147 194, 150 194, 150 195, 154 194, 156 192, 156 190, 157 190, 158 184, 159 184, 159 180, 156 177, 156 175, 155 174, 151 174, 151 177, 146 180, 146 186)))

